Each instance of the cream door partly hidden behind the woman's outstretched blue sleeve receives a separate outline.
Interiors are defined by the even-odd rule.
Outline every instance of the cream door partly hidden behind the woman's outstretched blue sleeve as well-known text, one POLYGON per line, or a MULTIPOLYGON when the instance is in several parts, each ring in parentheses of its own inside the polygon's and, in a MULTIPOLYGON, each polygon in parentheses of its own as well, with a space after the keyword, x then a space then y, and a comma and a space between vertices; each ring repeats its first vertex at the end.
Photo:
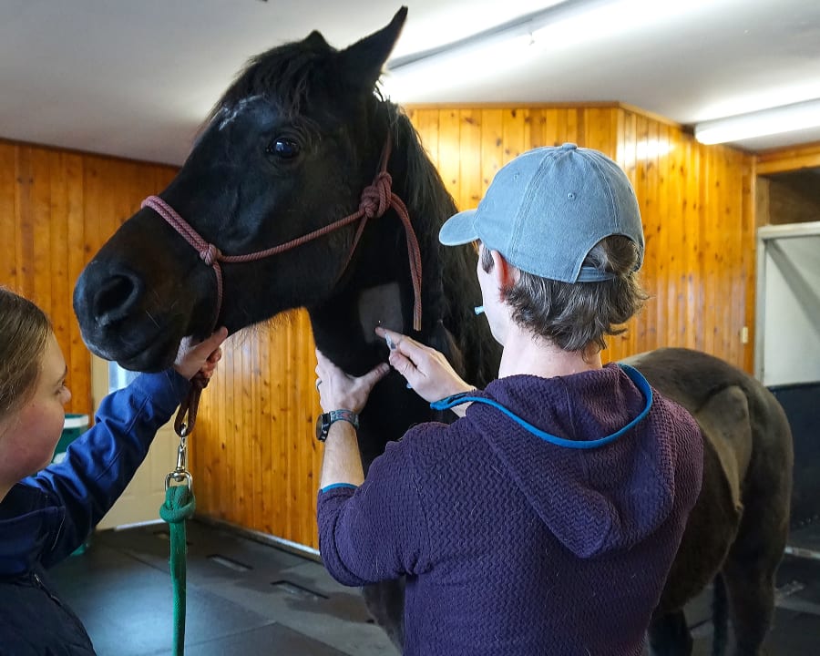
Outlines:
MULTIPOLYGON (((117 364, 109 366, 105 360, 91 356, 91 395, 95 409, 109 391, 124 386, 128 374, 130 372, 117 364)), ((98 529, 159 521, 159 507, 165 502, 165 477, 177 465, 178 446, 179 437, 170 421, 159 429, 145 462, 114 507, 97 524, 98 529)))

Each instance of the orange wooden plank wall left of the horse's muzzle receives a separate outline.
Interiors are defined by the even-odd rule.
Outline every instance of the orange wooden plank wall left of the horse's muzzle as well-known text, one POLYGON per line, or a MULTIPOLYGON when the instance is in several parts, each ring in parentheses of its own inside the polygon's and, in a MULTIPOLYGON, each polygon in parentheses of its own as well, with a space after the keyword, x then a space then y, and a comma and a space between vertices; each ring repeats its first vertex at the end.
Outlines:
POLYGON ((69 412, 90 413, 91 361, 74 283, 103 242, 176 169, 0 140, 0 284, 51 317, 68 364, 69 412))

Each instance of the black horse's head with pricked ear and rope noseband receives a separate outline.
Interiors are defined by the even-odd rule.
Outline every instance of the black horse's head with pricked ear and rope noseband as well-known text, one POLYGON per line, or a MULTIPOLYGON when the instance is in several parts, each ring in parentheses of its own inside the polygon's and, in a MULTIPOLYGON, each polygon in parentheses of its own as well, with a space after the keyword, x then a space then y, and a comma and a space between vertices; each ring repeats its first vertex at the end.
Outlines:
MULTIPOLYGON (((321 312, 357 275, 383 275, 366 273, 361 249, 354 252, 355 221, 269 257, 236 260, 359 208, 395 123, 374 87, 405 16, 403 7, 343 50, 313 32, 251 59, 159 200, 128 219, 77 281, 75 312, 92 351, 159 370, 186 335, 216 325, 232 333, 295 307, 321 312), (161 208, 187 227, 174 228, 161 208), (186 240, 189 229, 200 245, 186 240)), ((368 227, 362 242, 395 242, 396 230, 368 227)))

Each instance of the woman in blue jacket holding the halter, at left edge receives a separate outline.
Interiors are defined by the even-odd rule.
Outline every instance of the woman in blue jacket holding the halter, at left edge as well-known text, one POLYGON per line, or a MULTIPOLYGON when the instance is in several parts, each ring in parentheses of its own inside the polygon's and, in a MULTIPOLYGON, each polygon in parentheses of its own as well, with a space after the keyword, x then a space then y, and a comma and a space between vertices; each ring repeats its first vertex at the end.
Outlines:
POLYGON ((172 368, 108 395, 95 425, 50 464, 71 398, 46 314, 0 288, 0 654, 93 654, 47 569, 87 538, 128 485, 200 370, 213 373, 222 328, 184 343, 172 368))

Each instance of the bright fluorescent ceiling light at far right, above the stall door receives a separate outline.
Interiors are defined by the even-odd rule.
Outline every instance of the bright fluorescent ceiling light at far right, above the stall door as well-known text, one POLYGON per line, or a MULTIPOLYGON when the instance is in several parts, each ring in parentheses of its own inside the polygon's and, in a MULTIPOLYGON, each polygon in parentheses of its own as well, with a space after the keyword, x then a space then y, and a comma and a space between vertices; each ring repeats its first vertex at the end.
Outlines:
POLYGON ((820 98, 698 123, 695 138, 718 144, 820 127, 820 98))

